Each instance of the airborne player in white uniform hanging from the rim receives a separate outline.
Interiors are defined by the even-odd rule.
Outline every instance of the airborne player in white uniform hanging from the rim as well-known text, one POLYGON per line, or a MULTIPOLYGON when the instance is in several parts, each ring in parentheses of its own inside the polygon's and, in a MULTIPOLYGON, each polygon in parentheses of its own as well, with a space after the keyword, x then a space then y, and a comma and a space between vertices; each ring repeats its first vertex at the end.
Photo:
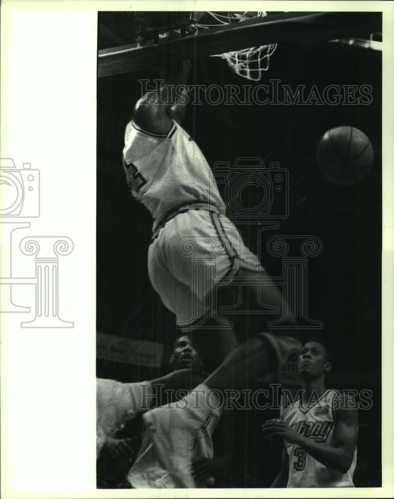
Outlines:
MULTIPOLYGON (((233 305, 238 298, 232 286, 221 286, 220 280, 233 278, 240 269, 243 277, 268 276, 225 216, 224 202, 197 144, 174 120, 185 110, 176 101, 174 85, 184 83, 189 70, 190 63, 183 62, 177 78, 168 79, 160 89, 147 92, 137 102, 126 128, 123 166, 132 195, 153 217, 153 238, 148 250, 152 285, 167 308, 176 314, 178 327, 193 332, 193 344, 212 371, 236 346, 233 331, 242 336, 247 329, 245 318, 252 321, 257 317, 253 313, 233 314, 228 318, 232 328, 215 328, 219 306, 233 305), (209 266, 213 254, 214 278, 196 277, 193 255, 209 266), (201 329, 201 325, 212 329, 201 329)), ((283 298, 272 282, 248 286, 240 299, 245 312, 261 309, 259 303, 263 302, 276 307, 271 308, 270 319, 281 318, 283 298)), ((258 320, 262 322, 260 314, 258 320)), ((287 321, 286 326, 295 325, 291 314, 287 321)), ((262 331, 263 323, 258 325, 262 331)), ((270 350, 269 354, 264 353, 264 357, 270 358, 269 365, 265 365, 267 371, 285 361, 294 347, 300 347, 292 337, 272 334, 263 334, 257 343, 258 350, 270 350), (275 355, 279 351, 283 358, 275 355)), ((239 360, 241 356, 238 352, 239 360)), ((246 364, 243 368, 247 370, 246 364)))

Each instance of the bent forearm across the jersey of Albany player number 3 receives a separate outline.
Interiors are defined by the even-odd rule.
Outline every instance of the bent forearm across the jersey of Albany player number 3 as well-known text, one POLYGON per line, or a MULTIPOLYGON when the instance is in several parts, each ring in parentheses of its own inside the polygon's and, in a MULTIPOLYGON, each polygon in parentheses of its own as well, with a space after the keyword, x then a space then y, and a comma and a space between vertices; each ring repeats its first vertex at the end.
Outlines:
POLYGON ((353 456, 343 448, 325 447, 302 435, 300 435, 297 442, 294 443, 302 447, 322 465, 341 473, 346 473, 352 464, 353 456))

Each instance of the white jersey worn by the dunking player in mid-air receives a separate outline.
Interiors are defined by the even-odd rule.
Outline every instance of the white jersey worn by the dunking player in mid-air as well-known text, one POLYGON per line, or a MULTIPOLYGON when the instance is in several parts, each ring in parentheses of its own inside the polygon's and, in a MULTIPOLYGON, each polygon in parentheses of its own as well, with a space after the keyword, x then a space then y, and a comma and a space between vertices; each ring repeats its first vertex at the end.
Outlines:
POLYGON ((167 135, 153 134, 131 121, 125 132, 123 167, 132 195, 154 219, 178 208, 210 204, 225 213, 211 170, 196 142, 176 122, 167 135))

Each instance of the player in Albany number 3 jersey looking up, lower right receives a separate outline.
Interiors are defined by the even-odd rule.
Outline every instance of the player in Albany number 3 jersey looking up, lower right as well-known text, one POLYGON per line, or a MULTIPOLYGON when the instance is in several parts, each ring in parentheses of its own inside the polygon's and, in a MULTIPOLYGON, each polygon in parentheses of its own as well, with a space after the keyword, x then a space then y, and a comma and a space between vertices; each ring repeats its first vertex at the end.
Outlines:
POLYGON ((282 467, 271 487, 354 487, 358 414, 354 401, 326 390, 331 367, 322 343, 306 343, 298 357, 302 398, 280 419, 263 424, 263 434, 284 440, 282 467))

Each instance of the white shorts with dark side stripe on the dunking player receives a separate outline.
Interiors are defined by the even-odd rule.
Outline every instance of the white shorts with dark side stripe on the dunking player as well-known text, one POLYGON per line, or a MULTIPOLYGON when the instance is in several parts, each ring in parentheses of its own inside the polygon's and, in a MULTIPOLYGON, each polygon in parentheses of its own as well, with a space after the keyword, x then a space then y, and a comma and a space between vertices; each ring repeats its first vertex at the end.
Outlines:
POLYGON ((152 285, 179 327, 207 320, 215 306, 212 291, 242 276, 243 268, 256 276, 264 270, 234 224, 209 207, 168 220, 148 250, 152 285))

